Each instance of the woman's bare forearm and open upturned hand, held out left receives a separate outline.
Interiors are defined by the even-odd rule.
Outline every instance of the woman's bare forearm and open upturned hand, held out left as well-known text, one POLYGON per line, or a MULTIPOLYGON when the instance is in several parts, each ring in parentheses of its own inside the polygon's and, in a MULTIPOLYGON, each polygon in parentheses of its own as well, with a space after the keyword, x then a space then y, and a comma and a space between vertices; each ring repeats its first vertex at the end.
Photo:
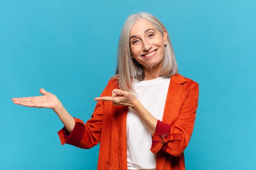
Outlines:
POLYGON ((36 107, 36 108, 51 108, 61 119, 65 128, 68 132, 71 132, 75 126, 74 118, 67 112, 64 106, 61 104, 61 101, 57 98, 56 95, 45 91, 43 88, 40 88, 39 92, 43 96, 35 97, 21 97, 11 99, 14 104, 27 106, 27 107, 36 107))

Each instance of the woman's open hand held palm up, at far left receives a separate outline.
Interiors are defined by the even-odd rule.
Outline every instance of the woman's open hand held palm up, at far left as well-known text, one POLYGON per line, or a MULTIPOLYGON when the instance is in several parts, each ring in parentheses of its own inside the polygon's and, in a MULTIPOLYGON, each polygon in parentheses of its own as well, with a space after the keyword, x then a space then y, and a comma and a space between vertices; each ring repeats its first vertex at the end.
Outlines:
POLYGON ((52 108, 53 110, 58 109, 61 102, 56 97, 56 95, 45 91, 43 88, 40 88, 39 92, 43 96, 35 97, 20 97, 11 99, 14 104, 27 106, 27 107, 36 107, 36 108, 52 108))

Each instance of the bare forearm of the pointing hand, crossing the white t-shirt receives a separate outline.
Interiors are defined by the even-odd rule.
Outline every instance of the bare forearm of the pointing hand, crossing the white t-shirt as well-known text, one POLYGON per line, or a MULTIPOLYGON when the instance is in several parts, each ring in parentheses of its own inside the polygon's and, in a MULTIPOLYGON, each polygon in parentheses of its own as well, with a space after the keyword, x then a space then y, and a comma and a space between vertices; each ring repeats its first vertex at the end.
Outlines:
POLYGON ((147 126, 148 130, 150 131, 151 135, 155 133, 155 128, 157 126, 157 119, 151 115, 151 113, 142 106, 142 104, 137 100, 133 106, 131 106, 133 110, 136 111, 139 118, 144 122, 147 126))

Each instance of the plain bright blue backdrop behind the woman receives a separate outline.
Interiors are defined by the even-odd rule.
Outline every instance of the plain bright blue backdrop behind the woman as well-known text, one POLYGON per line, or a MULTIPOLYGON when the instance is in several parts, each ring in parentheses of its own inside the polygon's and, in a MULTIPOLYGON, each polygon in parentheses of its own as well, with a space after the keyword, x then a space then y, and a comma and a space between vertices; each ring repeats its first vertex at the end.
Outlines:
POLYGON ((88 120, 115 73, 121 27, 139 11, 163 22, 179 73, 200 84, 186 169, 256 169, 255 9, 255 0, 1 0, 0 169, 97 168, 99 146, 61 146, 52 110, 11 98, 43 87, 88 120))

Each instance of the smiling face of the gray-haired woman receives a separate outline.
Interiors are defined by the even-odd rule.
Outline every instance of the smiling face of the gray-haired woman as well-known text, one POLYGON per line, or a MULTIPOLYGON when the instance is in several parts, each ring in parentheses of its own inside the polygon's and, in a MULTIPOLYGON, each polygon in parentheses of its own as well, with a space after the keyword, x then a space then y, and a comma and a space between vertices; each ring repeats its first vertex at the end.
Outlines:
POLYGON ((167 32, 164 35, 157 31, 148 20, 138 20, 130 31, 130 49, 134 59, 143 68, 162 68, 164 43, 167 43, 167 32))

